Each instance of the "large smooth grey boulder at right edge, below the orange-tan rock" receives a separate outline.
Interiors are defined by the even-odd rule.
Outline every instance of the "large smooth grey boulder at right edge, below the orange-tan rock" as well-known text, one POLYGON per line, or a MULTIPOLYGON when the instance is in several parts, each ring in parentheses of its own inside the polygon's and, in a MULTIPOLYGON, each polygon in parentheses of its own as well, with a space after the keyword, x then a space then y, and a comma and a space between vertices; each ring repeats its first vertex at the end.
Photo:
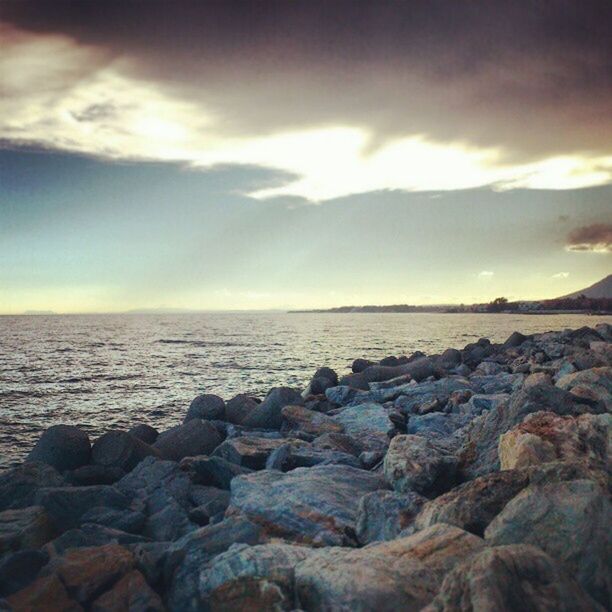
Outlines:
POLYGON ((485 531, 494 546, 533 544, 562 561, 603 606, 610 599, 610 502, 590 480, 532 485, 512 499, 485 531))

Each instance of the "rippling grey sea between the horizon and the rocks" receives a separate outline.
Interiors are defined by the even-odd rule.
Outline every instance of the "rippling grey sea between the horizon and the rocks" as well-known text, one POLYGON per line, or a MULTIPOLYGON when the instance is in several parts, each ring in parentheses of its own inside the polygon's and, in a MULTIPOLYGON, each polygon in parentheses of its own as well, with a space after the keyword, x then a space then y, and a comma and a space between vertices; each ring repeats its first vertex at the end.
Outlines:
POLYGON ((610 317, 498 314, 0 316, 0 466, 58 423, 92 438, 110 428, 182 421, 199 393, 229 399, 302 387, 320 366, 462 348, 610 317))

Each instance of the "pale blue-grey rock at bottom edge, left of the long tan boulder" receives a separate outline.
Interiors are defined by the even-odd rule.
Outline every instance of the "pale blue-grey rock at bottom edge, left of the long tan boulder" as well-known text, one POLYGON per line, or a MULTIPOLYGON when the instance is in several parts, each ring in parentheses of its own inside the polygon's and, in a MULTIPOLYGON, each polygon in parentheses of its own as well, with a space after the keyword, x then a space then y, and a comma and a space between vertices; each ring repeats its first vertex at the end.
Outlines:
POLYGON ((289 610, 295 600, 295 566, 312 554, 289 544, 237 544, 208 562, 200 574, 205 609, 289 610))

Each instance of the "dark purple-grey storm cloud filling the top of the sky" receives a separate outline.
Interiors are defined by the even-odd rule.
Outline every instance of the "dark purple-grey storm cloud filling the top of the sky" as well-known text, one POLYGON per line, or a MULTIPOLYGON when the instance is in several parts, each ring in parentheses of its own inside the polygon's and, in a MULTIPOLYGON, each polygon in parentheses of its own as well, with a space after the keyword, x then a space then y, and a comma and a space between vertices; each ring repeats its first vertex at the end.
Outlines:
POLYGON ((351 124, 503 147, 610 153, 612 3, 8 2, 20 28, 127 58, 227 133, 351 124))

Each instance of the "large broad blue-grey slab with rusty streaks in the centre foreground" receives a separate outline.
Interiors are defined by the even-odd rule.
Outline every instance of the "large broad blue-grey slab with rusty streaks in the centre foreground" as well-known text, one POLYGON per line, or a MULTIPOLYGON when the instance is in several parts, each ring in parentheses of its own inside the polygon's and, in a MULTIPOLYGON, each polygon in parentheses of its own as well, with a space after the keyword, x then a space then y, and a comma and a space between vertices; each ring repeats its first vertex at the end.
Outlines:
POLYGON ((380 476, 341 465, 255 472, 232 481, 228 514, 240 511, 269 534, 313 545, 353 545, 359 499, 385 488, 380 476))

